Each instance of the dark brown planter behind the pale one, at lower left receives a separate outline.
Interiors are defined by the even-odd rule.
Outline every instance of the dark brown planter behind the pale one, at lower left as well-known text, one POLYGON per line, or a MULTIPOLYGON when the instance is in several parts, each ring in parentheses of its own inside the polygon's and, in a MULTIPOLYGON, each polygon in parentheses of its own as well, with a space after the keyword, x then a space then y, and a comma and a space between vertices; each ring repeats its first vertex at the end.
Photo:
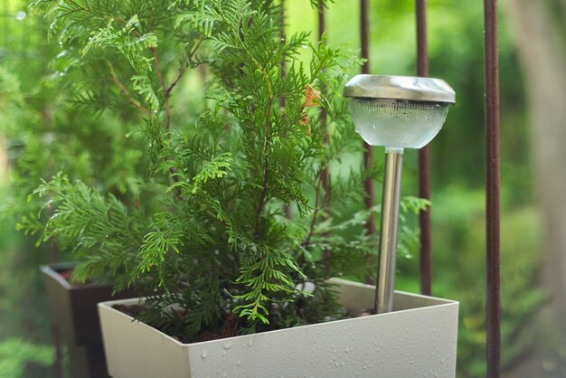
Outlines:
POLYGON ((107 378, 97 303, 135 297, 132 290, 112 295, 110 283, 71 284, 61 276, 72 263, 42 266, 52 324, 69 352, 71 376, 107 378))

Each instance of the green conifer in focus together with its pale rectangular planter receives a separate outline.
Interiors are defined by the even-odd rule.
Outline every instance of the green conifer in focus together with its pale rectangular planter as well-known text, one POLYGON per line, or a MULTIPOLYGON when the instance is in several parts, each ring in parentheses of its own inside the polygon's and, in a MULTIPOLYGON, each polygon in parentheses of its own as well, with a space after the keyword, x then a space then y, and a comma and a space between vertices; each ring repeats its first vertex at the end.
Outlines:
MULTIPOLYGON (((109 269, 118 288, 146 294, 99 307, 110 375, 281 374, 291 362, 309 374, 317 359, 331 374, 399 372, 399 361, 454 374, 458 304, 398 294, 399 311, 352 318, 371 309, 373 288, 333 280, 374 266, 363 223, 379 209, 360 208, 375 172, 337 165, 361 150, 340 96, 359 61, 307 46, 306 33, 281 39, 271 1, 34 5, 80 46, 71 66, 98 73, 84 89, 121 95, 144 118, 149 170, 133 201, 64 174, 35 191, 54 209, 46 237, 84 255, 80 277, 109 269), (418 356, 420 345, 431 352, 418 356)), ((401 247, 412 237, 402 233, 401 247)))

